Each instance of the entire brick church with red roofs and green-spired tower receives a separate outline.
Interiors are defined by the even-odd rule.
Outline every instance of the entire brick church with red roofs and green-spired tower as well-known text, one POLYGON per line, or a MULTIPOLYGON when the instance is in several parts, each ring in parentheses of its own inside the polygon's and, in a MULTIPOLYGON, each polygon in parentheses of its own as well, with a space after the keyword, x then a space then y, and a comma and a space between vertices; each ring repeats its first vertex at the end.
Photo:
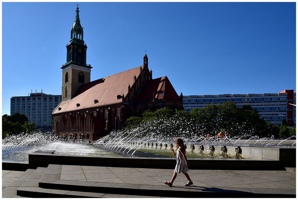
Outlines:
POLYGON ((182 92, 178 96, 166 76, 152 78, 147 54, 142 66, 91 81, 83 35, 77 7, 61 67, 62 101, 52 113, 52 128, 60 138, 96 140, 145 110, 184 109, 182 92))

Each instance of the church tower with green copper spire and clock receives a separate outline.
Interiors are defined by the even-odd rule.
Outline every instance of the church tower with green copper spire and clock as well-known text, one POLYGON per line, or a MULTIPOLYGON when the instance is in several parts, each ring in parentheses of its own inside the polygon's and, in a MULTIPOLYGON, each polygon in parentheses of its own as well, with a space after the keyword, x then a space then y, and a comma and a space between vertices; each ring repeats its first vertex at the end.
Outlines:
POLYGON ((87 45, 83 40, 83 27, 80 24, 79 7, 75 23, 70 30, 69 44, 66 45, 66 63, 62 65, 62 101, 70 100, 79 87, 90 82, 91 65, 86 64, 87 45))

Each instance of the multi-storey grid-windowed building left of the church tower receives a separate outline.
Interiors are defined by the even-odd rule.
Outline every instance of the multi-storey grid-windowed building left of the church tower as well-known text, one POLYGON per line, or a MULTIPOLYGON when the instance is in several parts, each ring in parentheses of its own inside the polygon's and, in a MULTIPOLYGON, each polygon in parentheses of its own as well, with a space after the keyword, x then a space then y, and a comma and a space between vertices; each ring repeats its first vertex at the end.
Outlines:
POLYGON ((10 115, 25 114, 36 128, 52 129, 52 112, 61 102, 61 95, 30 93, 30 96, 10 98, 10 115))

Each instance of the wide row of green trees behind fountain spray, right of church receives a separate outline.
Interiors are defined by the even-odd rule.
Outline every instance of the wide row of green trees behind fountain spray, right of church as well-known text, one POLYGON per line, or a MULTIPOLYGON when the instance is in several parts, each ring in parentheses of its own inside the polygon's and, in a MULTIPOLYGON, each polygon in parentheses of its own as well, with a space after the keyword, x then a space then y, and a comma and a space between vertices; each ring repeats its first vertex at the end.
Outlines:
MULTIPOLYGON (((260 119, 258 111, 251 106, 241 108, 233 102, 224 102, 219 105, 209 104, 205 108, 194 108, 187 111, 161 108, 154 112, 144 111, 141 117, 130 117, 125 122, 126 128, 132 130, 141 128, 142 135, 156 133, 164 136, 185 137, 195 134, 210 134, 229 132, 231 137, 252 135, 267 136, 271 132, 279 132, 278 127, 271 126, 267 121, 260 119)), ((276 135, 276 134, 275 134, 276 135)))

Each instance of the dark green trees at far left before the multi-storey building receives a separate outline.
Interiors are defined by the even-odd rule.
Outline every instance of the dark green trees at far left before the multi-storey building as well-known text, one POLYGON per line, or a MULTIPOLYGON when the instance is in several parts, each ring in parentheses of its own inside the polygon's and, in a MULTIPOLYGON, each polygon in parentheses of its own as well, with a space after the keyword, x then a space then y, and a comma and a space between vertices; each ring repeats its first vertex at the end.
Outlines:
POLYGON ((8 135, 31 133, 35 130, 35 123, 28 123, 26 115, 14 113, 2 116, 2 138, 8 135))

